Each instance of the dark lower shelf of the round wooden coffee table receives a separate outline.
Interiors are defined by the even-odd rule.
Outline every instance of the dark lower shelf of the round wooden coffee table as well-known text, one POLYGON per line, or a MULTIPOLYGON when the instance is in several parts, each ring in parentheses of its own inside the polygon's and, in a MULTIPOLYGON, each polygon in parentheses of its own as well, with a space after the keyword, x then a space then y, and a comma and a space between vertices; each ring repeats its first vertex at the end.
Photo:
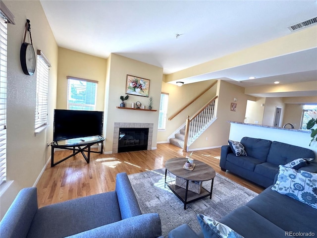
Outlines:
POLYGON ((186 210, 186 205, 188 203, 195 202, 199 199, 202 199, 208 196, 210 196, 210 199, 211 199, 213 179, 211 181, 211 191, 209 192, 204 187, 202 187, 201 192, 199 194, 175 185, 175 181, 166 182, 165 184, 184 203, 184 210, 186 210), (187 191, 187 197, 186 197, 186 191, 187 191))

